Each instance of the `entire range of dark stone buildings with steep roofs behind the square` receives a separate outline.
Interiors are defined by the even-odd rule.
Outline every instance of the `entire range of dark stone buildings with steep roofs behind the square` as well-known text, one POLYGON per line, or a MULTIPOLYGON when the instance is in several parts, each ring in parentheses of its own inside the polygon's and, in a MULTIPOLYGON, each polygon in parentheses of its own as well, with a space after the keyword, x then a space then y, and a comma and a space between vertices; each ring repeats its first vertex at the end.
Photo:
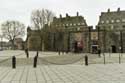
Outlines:
POLYGON ((27 47, 30 50, 125 52, 125 11, 102 12, 96 29, 88 26, 83 16, 54 17, 50 26, 41 31, 28 30, 27 47), (44 34, 44 36, 43 36, 44 34))

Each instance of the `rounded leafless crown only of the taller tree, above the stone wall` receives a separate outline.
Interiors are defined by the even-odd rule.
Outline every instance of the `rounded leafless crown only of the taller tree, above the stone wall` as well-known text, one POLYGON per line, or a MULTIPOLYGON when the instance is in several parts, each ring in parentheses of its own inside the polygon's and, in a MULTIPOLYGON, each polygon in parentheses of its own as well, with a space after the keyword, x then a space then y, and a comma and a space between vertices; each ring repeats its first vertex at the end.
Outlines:
POLYGON ((48 9, 34 10, 31 14, 31 22, 34 29, 40 30, 45 24, 50 25, 53 21, 54 13, 48 9))

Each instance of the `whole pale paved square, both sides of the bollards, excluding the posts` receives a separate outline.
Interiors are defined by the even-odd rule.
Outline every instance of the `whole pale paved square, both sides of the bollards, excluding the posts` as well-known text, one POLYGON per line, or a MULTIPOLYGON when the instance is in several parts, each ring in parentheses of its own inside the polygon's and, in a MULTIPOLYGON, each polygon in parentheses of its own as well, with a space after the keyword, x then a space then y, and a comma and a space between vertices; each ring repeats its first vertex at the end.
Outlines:
MULTIPOLYGON (((124 83, 125 82, 125 54, 122 54, 121 64, 119 64, 119 54, 105 54, 106 64, 103 64, 103 55, 99 58, 97 55, 87 54, 89 65, 84 65, 84 56, 86 54, 64 54, 58 55, 56 52, 40 52, 37 68, 33 68, 33 57, 36 52, 31 51, 27 59, 24 51, 1 51, 0 52, 0 82, 1 83, 124 83), (11 67, 12 56, 16 56, 16 69, 11 67), (50 57, 59 56, 59 60, 50 57), (70 56, 70 58, 66 57, 70 56), (75 56, 75 58, 74 58, 75 56), (44 58, 47 57, 47 58, 44 58), (63 58, 62 58, 63 57, 63 58), (64 59, 64 58, 67 59, 64 59), (81 59, 79 59, 80 57, 81 59), (43 58, 40 60, 40 58, 43 58), (43 60, 48 62, 45 63, 43 60), (72 61, 74 63, 70 63, 72 61), (55 60, 55 61, 53 61, 55 60), (69 61, 70 60, 70 61, 69 61), (43 62, 42 62, 43 61, 43 62), (65 65, 58 63, 66 62, 65 65), (69 62, 68 62, 69 61, 69 62)), ((58 59, 58 58, 57 58, 58 59)))

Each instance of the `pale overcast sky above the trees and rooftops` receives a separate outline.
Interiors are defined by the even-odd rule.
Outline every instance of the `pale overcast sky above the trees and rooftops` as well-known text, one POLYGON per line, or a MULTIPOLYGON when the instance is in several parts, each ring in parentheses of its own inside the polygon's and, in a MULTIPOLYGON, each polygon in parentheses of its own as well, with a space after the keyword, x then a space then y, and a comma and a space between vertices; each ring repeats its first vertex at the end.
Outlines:
POLYGON ((6 20, 18 20, 30 25, 30 15, 34 9, 50 9, 56 16, 68 13, 75 16, 78 11, 88 25, 95 26, 101 12, 125 10, 124 0, 0 0, 0 24, 6 20))

